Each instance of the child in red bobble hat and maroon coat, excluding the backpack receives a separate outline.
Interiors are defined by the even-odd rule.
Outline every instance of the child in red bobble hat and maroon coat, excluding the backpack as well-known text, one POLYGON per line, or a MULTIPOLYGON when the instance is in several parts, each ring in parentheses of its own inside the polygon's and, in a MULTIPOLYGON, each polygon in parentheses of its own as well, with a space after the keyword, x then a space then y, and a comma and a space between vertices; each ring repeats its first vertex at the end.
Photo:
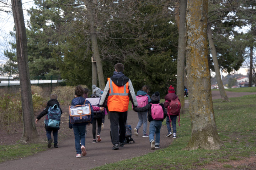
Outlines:
MULTIPOLYGON (((167 108, 170 104, 170 102, 172 100, 178 100, 180 101, 180 99, 178 98, 178 96, 175 94, 175 90, 174 87, 172 85, 170 85, 169 89, 168 89, 168 94, 165 96, 165 102, 164 102, 164 107, 167 108)), ((166 126, 167 126, 167 130, 168 130, 168 134, 166 135, 166 137, 170 137, 172 135, 173 138, 176 138, 176 121, 177 121, 177 115, 170 115, 170 119, 167 116, 166 118, 166 126), (171 127, 170 127, 170 119, 172 122, 172 129, 173 129, 173 134, 171 132, 171 127)))

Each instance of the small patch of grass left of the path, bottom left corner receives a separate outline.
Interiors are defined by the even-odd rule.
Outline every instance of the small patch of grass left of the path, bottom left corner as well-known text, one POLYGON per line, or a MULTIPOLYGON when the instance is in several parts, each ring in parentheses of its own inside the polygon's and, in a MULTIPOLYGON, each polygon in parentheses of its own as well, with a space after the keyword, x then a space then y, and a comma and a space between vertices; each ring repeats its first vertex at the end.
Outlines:
POLYGON ((0 145, 0 162, 27 157, 46 149, 45 143, 0 145))

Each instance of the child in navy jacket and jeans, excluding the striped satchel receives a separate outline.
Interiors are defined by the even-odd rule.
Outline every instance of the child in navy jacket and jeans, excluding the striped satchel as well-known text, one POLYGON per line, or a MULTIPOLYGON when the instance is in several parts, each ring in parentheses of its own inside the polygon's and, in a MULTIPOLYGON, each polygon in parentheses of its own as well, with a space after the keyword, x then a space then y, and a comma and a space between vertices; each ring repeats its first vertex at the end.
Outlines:
MULTIPOLYGON (((93 120, 93 108, 89 101, 85 101, 84 95, 84 89, 81 86, 76 86, 75 89, 75 98, 71 101, 72 106, 76 105, 82 105, 82 104, 90 104, 91 106, 91 119, 93 120)), ((84 123, 77 123, 77 124, 71 124, 69 122, 69 128, 74 131, 75 136, 75 148, 76 148, 76 158, 80 158, 81 154, 83 156, 86 155, 86 149, 85 149, 85 137, 87 134, 86 131, 86 125, 92 124, 92 120, 90 122, 84 122, 84 123), (80 140, 81 140, 81 147, 80 147, 80 140)))

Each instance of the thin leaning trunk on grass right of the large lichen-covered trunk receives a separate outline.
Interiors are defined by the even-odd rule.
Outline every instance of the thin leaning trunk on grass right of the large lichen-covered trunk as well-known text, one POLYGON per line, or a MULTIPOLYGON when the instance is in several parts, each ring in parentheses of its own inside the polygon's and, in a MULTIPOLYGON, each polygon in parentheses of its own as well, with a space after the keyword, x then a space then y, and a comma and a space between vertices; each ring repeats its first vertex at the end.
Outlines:
POLYGON ((208 27, 208 40, 209 40, 209 44, 210 44, 210 51, 212 53, 212 57, 213 57, 213 64, 214 64, 214 70, 215 70, 215 76, 216 76, 216 80, 219 86, 219 92, 220 92, 220 96, 222 97, 223 101, 227 101, 230 102, 228 96, 226 95, 223 83, 222 83, 222 79, 220 76, 220 71, 219 71, 219 62, 218 62, 218 58, 217 58, 217 52, 214 46, 214 42, 213 42, 213 36, 212 36, 212 30, 210 29, 211 24, 209 24, 208 27))

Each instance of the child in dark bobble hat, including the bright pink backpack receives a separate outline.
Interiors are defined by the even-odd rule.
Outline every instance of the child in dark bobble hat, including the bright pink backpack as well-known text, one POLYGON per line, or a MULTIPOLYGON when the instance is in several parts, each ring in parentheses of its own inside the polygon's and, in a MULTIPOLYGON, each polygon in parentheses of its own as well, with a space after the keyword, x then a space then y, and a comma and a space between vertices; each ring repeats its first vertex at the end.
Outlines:
POLYGON ((144 107, 134 107, 135 112, 148 111, 149 125, 149 142, 151 149, 160 148, 160 130, 162 121, 166 118, 167 112, 164 104, 160 102, 160 93, 157 91, 151 96, 151 102, 144 107), (154 135, 156 135, 154 140, 154 135))

